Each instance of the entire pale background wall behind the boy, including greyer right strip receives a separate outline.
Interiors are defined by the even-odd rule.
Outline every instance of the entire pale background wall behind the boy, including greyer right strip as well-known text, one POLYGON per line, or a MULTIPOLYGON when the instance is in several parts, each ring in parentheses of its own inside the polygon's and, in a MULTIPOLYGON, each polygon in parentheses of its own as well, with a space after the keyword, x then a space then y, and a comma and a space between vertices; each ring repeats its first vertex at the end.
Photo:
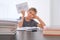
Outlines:
POLYGON ((16 4, 23 2, 37 9, 37 15, 46 26, 60 25, 60 0, 0 0, 0 19, 18 19, 16 4))

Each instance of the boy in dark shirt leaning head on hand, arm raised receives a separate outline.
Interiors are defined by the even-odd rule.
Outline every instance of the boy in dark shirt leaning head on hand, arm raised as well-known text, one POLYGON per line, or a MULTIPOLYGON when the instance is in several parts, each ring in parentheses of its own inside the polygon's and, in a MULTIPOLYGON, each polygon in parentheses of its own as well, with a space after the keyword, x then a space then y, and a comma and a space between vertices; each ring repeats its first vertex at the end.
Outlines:
POLYGON ((25 11, 22 10, 22 18, 21 18, 21 22, 18 23, 19 27, 40 27, 43 28, 45 26, 45 23, 36 15, 37 14, 37 10, 35 8, 30 8, 27 11, 27 16, 25 16, 25 11), (40 23, 37 23, 36 21, 34 21, 33 19, 37 19, 40 23))

